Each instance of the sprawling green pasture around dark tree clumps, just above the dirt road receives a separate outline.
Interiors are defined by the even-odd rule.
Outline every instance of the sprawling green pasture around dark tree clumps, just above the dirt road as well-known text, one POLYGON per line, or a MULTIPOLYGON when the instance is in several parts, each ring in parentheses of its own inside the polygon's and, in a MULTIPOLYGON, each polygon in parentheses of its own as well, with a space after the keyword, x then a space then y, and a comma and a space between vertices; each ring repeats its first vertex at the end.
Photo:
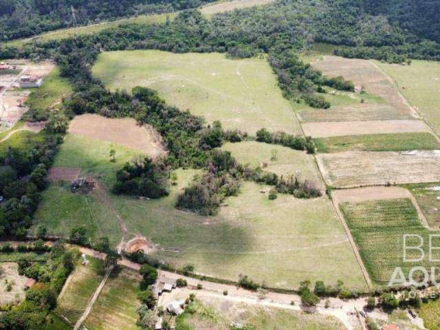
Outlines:
POLYGON ((151 239, 159 246, 156 256, 176 267, 193 263, 197 272, 234 281, 239 274, 248 274, 273 287, 296 288, 305 278, 329 284, 342 279, 349 287, 364 287, 347 236, 327 197, 278 195, 270 201, 260 192, 270 187, 245 182, 239 196, 228 198, 219 215, 201 217, 175 209, 177 195, 196 170, 177 170, 178 185, 162 199, 111 195, 108 188, 116 168, 130 158, 122 157, 122 148, 116 147, 114 164, 109 161, 106 142, 67 135, 55 165, 80 167, 96 175, 104 182, 108 200, 95 192, 75 195, 53 184, 43 192, 34 226, 45 223, 49 232, 68 234, 72 224, 83 223, 95 236, 109 236, 115 246, 120 232, 112 208, 130 234, 151 239))

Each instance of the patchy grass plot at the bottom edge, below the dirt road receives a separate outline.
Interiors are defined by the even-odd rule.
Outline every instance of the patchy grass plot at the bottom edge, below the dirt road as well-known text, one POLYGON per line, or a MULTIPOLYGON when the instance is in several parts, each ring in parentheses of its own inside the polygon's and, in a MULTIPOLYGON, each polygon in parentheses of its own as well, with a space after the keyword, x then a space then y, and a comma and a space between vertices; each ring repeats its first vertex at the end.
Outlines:
POLYGON ((176 330, 229 330, 236 321, 236 311, 240 310, 240 322, 245 329, 259 330, 316 330, 345 329, 338 320, 330 316, 306 314, 300 311, 286 311, 269 307, 255 307, 245 303, 231 303, 228 300, 214 300, 206 303, 195 300, 190 304, 193 314, 186 311, 177 318, 176 330), (220 307, 221 306, 221 307, 220 307))

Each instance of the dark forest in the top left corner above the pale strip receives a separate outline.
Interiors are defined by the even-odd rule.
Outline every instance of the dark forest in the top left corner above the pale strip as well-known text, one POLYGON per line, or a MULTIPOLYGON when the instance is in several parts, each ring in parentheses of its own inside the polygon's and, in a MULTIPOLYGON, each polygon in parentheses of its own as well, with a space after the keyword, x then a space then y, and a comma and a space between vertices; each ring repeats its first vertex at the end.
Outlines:
POLYGON ((212 0, 3 0, 0 41, 138 14, 195 8, 212 0))

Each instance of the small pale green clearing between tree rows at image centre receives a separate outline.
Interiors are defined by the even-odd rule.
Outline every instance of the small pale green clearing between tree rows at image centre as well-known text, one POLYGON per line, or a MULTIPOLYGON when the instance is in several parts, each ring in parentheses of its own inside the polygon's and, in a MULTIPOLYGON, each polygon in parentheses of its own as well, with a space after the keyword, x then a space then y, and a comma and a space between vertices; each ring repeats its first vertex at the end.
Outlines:
POLYGON ((280 176, 298 175, 300 179, 308 179, 322 184, 313 156, 308 155, 305 151, 253 141, 228 142, 223 144, 221 148, 230 151, 239 163, 249 164, 251 168, 267 164, 263 167, 263 170, 267 172, 280 176), (276 154, 276 159, 272 158, 273 153, 276 154))

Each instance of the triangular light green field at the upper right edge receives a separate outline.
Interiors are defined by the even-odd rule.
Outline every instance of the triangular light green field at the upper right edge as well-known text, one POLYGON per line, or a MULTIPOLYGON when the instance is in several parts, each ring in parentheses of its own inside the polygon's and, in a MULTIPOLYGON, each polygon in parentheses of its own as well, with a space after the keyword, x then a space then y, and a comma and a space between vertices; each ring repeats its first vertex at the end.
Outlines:
POLYGON ((395 81, 417 112, 437 134, 440 134, 440 63, 412 61, 411 65, 395 65, 375 62, 395 81))

